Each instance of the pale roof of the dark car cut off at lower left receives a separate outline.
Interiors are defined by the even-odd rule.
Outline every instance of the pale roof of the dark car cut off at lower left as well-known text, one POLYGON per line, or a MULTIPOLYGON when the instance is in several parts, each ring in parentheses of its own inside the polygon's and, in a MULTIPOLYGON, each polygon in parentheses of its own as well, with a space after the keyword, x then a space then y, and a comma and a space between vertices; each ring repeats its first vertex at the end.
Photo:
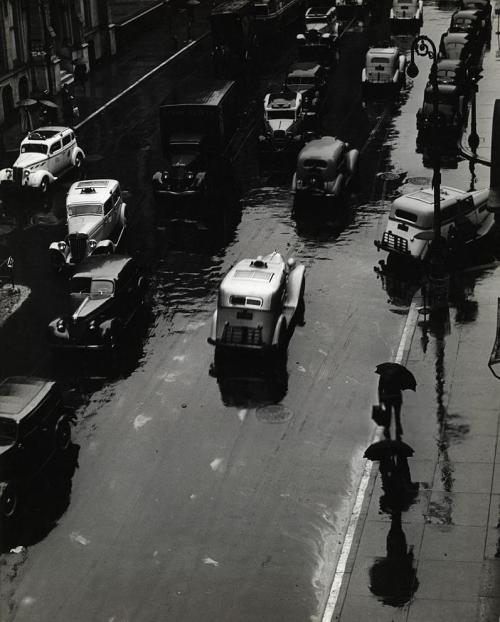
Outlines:
POLYGON ((0 382, 0 417, 19 423, 54 389, 55 382, 11 376, 0 382))

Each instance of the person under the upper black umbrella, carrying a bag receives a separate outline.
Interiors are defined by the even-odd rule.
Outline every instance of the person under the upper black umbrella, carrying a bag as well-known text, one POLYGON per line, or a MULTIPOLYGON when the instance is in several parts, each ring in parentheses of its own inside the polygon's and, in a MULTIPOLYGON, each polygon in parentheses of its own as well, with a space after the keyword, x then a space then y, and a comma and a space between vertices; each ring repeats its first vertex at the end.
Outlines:
POLYGON ((378 382, 378 399, 388 416, 387 425, 384 427, 384 436, 390 438, 392 412, 394 412, 394 424, 396 427, 396 439, 401 440, 403 428, 401 426, 401 407, 403 405, 402 391, 411 389, 415 391, 417 382, 415 376, 404 365, 399 363, 381 363, 377 365, 375 373, 380 375, 378 382))

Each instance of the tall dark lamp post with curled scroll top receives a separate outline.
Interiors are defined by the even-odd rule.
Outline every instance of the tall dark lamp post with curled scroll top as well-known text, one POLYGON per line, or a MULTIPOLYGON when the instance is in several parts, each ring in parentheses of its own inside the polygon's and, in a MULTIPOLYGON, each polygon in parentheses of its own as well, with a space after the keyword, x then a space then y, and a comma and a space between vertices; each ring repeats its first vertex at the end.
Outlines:
POLYGON ((433 236, 427 256, 429 276, 429 302, 431 309, 448 306, 449 274, 447 268, 446 242, 441 237, 441 151, 439 118, 439 83, 437 79, 437 50, 434 41, 426 35, 415 37, 411 45, 411 58, 407 67, 410 78, 418 75, 415 55, 428 57, 432 61, 429 82, 432 88, 432 136, 430 137, 432 156, 432 188, 434 190, 433 236))

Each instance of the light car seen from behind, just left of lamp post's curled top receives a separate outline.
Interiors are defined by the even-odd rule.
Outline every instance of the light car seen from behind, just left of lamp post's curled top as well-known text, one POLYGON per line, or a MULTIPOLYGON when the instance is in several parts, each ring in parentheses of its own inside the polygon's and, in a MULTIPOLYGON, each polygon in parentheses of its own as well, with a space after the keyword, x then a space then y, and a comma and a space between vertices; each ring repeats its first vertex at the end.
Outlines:
POLYGON ((363 91, 367 95, 375 87, 400 90, 405 83, 406 56, 397 47, 374 47, 366 53, 361 72, 363 91))

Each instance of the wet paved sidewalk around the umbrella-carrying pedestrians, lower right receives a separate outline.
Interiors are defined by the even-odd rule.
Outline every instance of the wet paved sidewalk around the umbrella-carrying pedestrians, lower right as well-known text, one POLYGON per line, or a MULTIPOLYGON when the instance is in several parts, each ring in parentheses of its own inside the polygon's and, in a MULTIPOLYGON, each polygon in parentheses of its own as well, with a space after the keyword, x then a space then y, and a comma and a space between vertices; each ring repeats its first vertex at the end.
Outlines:
POLYGON ((415 394, 404 394, 402 423, 403 440, 415 450, 408 462, 420 489, 402 514, 404 535, 396 524, 388 538, 391 519, 380 511, 374 463, 333 620, 499 620, 500 381, 487 363, 500 267, 469 272, 461 280, 449 323, 429 326, 418 314, 421 301, 410 310, 418 321, 403 363, 418 386, 415 394), (413 595, 403 604, 405 573, 413 595), (383 602, 398 599, 400 606, 383 602))

